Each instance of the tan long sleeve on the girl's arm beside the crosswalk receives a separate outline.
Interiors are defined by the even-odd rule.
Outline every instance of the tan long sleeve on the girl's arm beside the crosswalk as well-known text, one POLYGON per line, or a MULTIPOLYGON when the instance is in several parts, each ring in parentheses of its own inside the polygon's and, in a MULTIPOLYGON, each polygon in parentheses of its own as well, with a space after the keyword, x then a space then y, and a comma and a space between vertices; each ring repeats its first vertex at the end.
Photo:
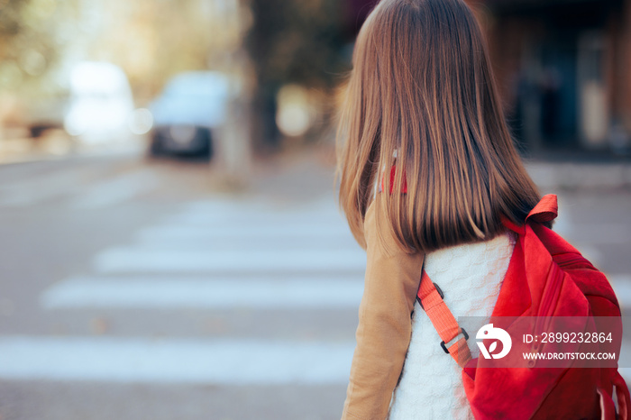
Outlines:
POLYGON ((375 223, 378 207, 373 201, 364 220, 368 262, 343 420, 377 420, 388 415, 412 333, 411 315, 425 257, 399 251, 388 232, 382 233, 388 251, 380 246, 375 223))

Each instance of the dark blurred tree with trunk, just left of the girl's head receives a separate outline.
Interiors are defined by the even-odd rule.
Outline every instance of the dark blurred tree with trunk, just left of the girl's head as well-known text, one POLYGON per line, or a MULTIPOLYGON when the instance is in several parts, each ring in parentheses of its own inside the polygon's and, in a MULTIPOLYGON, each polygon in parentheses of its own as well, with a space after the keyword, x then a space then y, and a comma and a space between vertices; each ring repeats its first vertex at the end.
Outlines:
POLYGON ((348 1, 249 0, 253 24, 245 42, 257 78, 253 142, 276 148, 276 96, 288 83, 330 92, 350 65, 348 1))

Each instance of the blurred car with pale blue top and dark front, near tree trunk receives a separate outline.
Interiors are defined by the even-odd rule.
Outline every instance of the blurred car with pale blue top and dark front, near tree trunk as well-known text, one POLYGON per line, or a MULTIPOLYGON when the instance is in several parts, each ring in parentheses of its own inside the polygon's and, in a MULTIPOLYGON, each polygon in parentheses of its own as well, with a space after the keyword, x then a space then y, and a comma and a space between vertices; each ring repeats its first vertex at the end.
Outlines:
POLYGON ((229 79, 214 71, 189 71, 171 78, 149 106, 153 115, 151 155, 213 155, 213 132, 226 118, 229 79))

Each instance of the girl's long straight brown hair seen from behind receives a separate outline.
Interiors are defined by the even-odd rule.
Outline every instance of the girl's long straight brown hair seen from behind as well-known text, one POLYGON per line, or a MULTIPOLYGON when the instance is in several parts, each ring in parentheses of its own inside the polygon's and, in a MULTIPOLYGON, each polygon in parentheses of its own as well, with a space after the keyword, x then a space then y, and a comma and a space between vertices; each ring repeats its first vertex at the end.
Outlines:
POLYGON ((409 252, 490 239, 502 216, 524 223, 540 196, 513 145, 468 5, 382 0, 361 27, 352 64, 338 178, 340 205, 362 246, 382 180, 377 223, 386 215, 409 252))

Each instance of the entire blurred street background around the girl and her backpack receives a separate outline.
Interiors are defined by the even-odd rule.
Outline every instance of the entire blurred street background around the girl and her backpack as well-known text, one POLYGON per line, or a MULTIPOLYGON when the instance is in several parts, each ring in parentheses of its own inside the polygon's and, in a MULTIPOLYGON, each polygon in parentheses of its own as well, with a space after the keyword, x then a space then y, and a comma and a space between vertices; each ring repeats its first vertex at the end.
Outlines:
MULTIPOLYGON (((0 0, 0 419, 339 418, 335 109, 375 3, 0 0)), ((470 4, 555 229, 631 308, 631 1, 470 4)))

